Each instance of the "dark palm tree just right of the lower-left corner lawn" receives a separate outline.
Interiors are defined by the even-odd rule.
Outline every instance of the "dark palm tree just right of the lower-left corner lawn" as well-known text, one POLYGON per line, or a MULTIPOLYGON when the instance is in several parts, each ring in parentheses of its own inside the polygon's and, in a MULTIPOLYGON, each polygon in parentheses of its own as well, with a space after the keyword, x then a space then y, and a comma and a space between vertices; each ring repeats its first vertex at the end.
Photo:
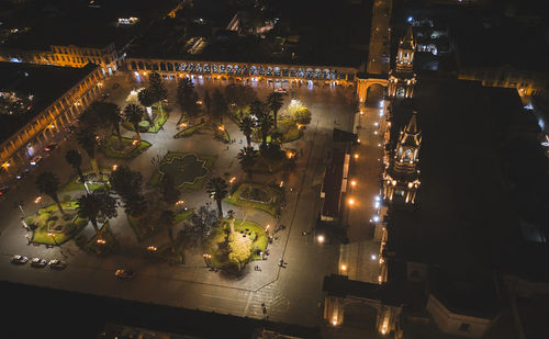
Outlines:
POLYGON ((79 217, 88 218, 96 230, 99 239, 103 239, 99 231, 98 219, 115 217, 116 200, 104 189, 98 189, 91 193, 81 195, 77 202, 76 212, 79 217))

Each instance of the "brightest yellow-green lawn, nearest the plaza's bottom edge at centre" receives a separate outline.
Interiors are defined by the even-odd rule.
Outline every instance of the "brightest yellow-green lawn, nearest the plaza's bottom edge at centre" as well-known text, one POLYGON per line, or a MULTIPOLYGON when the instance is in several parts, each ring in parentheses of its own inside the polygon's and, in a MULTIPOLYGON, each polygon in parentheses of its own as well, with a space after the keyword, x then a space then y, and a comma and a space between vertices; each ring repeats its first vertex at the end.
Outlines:
MULTIPOLYGON (((248 261, 260 260, 261 256, 259 252, 265 252, 269 242, 265 229, 256 223, 235 219, 235 231, 255 234, 256 238, 251 242, 253 255, 248 261)), ((228 260, 228 251, 226 249, 227 233, 228 221, 224 219, 223 227, 212 231, 210 238, 206 239, 204 244, 204 251, 212 256, 212 258, 209 259, 210 265, 212 267, 226 269, 234 265, 234 263, 228 260)))

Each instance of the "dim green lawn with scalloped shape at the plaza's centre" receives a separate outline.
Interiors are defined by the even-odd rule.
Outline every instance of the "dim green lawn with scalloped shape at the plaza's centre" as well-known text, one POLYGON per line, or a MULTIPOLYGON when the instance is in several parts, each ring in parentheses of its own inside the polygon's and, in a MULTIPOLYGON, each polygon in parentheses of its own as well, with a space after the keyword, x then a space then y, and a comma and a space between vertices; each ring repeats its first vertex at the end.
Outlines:
POLYGON ((148 180, 148 185, 157 185, 164 174, 168 173, 181 190, 202 189, 205 177, 216 159, 215 156, 169 151, 160 161, 158 170, 148 180))

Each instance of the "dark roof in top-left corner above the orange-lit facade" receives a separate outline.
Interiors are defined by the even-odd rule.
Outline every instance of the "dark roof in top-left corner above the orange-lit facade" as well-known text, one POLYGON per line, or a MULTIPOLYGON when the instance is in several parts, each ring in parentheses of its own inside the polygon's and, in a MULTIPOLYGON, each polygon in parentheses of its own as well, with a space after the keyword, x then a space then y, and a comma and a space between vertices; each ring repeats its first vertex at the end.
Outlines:
POLYGON ((89 1, 59 0, 25 2, 16 5, 7 18, 7 25, 18 27, 21 33, 10 35, 2 46, 47 50, 49 45, 104 48, 114 43, 120 48, 150 20, 165 14, 176 4, 175 0, 158 0, 154 7, 145 0, 96 0, 93 4, 89 1), (119 18, 128 16, 139 18, 139 22, 116 25, 119 18))

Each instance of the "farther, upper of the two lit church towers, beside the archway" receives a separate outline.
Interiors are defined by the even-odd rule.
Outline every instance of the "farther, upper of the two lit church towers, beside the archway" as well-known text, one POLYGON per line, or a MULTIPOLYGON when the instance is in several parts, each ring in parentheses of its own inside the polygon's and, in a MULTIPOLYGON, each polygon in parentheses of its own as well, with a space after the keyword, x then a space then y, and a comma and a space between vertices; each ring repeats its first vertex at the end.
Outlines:
POLYGON ((406 35, 399 43, 395 69, 389 76, 389 95, 412 98, 416 81, 413 72, 415 48, 414 31, 410 25, 406 35))

